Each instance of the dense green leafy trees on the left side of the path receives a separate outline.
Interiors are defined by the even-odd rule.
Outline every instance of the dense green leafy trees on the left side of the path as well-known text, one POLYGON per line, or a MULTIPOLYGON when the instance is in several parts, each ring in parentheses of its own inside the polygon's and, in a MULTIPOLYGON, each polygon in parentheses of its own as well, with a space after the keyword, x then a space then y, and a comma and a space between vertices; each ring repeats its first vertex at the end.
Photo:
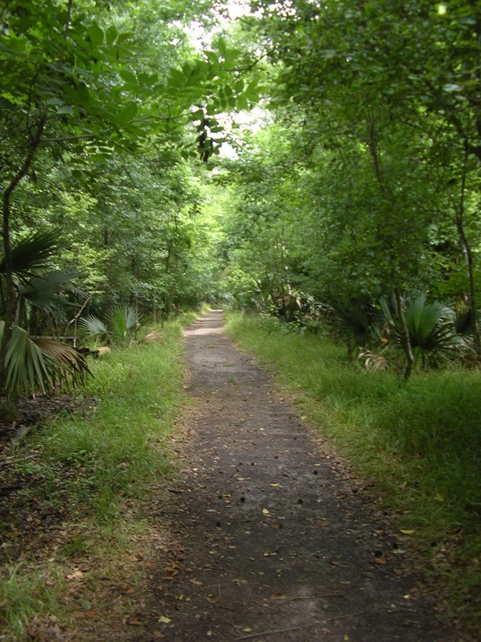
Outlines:
POLYGON ((208 3, 182 2, 1 8, 0 379, 8 391, 18 388, 9 385, 13 328, 33 333, 24 365, 34 376, 17 379, 34 391, 59 365, 48 345, 31 344, 34 335, 68 335, 80 313, 105 315, 119 303, 167 318, 210 295, 203 170, 189 159, 218 153, 217 113, 257 98, 255 78, 234 64, 245 60, 239 50, 220 36, 202 52, 189 44, 185 25, 214 16, 208 3), (32 232, 53 237, 48 251, 25 244, 32 232), (25 289, 37 295, 26 302, 25 289))

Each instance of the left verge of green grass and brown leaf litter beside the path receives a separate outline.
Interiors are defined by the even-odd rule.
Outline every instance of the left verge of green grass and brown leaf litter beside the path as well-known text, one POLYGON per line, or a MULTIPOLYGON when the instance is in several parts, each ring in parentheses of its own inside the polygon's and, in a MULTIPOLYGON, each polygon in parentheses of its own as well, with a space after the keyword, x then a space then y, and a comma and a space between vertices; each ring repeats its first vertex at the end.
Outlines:
POLYGON ((179 339, 194 316, 92 363, 82 412, 8 451, 19 488, 0 524, 2 639, 43 639, 51 629, 94 640, 99 622, 138 624, 145 564, 163 537, 145 498, 172 467, 168 436, 184 400, 179 339))

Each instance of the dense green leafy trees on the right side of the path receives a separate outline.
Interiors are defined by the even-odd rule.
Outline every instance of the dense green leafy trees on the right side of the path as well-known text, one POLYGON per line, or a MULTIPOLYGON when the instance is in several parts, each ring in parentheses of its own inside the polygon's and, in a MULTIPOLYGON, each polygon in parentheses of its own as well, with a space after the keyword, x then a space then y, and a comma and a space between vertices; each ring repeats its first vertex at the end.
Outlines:
POLYGON ((394 300, 408 376, 405 300, 427 292, 468 317, 480 354, 480 7, 252 5, 271 116, 230 169, 236 300, 286 316, 289 296, 344 320, 394 300))

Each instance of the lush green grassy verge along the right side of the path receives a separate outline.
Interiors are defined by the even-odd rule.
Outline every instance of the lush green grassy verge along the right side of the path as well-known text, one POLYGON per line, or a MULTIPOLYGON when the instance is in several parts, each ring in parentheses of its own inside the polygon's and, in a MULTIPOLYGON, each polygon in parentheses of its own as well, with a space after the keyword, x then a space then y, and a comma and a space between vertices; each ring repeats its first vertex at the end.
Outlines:
MULTIPOLYGON (((450 606, 481 627, 479 372, 366 373, 317 335, 267 330, 231 316, 228 334, 273 370, 322 437, 380 489, 445 587, 450 606)), ((405 531, 404 534, 402 531, 405 531)))

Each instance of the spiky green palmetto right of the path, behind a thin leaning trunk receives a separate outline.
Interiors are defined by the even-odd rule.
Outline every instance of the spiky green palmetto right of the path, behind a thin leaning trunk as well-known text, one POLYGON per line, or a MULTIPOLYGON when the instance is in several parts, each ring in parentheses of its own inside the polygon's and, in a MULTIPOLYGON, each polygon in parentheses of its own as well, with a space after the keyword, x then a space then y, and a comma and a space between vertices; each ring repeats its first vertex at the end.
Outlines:
MULTIPOLYGON (((394 343, 401 345, 402 330, 394 302, 381 300, 382 312, 389 323, 394 343)), ((438 367, 461 348, 461 339, 454 327, 454 312, 438 301, 426 303, 419 293, 405 301, 405 323, 408 327, 415 363, 438 367)))

